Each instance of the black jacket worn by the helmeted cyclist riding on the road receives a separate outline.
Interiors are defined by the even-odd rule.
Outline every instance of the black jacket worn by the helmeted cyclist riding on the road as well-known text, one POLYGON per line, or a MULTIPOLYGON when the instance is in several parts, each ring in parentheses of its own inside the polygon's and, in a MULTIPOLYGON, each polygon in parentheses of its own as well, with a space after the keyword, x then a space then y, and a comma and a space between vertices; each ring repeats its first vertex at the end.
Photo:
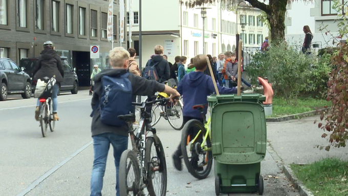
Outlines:
POLYGON ((43 80, 44 77, 51 78, 54 75, 56 76, 57 82, 63 81, 64 71, 60 56, 55 50, 43 50, 33 70, 34 80, 43 80))

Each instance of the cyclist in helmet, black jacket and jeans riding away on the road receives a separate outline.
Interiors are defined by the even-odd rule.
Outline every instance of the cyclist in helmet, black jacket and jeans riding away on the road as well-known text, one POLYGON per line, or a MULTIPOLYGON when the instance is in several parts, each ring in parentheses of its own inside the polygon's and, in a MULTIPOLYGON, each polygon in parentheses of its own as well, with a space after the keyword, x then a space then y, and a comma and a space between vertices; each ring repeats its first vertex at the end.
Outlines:
MULTIPOLYGON (((58 85, 59 82, 63 81, 64 71, 62 69, 62 64, 60 56, 54 50, 53 42, 46 41, 44 43, 44 50, 41 52, 36 67, 33 70, 34 80, 44 80, 45 77, 52 78, 55 76, 56 84, 53 86, 52 91, 52 103, 53 103, 53 120, 59 120, 57 115, 58 107, 58 85)), ((39 120, 39 99, 37 99, 36 108, 35 108, 35 119, 39 120)))

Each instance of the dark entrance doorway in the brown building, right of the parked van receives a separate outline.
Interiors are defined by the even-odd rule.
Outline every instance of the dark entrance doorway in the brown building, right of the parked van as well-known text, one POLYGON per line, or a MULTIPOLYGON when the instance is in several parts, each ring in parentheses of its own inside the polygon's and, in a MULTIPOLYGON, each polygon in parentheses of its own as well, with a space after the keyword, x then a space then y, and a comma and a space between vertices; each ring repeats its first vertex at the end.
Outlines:
POLYGON ((79 86, 90 86, 90 52, 73 51, 73 64, 76 64, 79 86))

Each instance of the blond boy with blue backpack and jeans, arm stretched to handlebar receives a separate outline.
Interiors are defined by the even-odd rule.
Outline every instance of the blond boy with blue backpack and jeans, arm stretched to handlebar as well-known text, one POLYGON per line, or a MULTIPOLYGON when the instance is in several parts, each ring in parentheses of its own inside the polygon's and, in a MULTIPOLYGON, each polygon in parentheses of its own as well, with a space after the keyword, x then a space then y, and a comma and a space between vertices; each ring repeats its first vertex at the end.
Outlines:
POLYGON ((129 114, 132 97, 150 96, 156 92, 170 94, 170 99, 180 94, 167 85, 146 80, 127 73, 129 52, 122 47, 110 51, 111 70, 104 70, 95 76, 95 90, 92 98, 92 138, 94 162, 91 175, 91 196, 101 195, 106 158, 110 144, 114 148, 116 166, 116 195, 119 196, 119 164, 124 150, 128 147, 127 124, 117 116, 129 114))

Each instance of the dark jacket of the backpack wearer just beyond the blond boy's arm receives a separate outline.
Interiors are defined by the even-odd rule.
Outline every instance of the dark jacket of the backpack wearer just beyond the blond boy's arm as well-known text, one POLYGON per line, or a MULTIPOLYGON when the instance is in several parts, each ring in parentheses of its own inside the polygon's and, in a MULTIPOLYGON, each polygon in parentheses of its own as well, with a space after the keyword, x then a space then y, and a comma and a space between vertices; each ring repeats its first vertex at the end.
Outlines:
POLYGON ((169 80, 170 76, 170 68, 169 63, 166 59, 161 55, 152 55, 151 58, 147 61, 146 67, 152 66, 154 63, 159 62, 156 66, 156 71, 158 77, 160 78, 160 82, 169 80))

